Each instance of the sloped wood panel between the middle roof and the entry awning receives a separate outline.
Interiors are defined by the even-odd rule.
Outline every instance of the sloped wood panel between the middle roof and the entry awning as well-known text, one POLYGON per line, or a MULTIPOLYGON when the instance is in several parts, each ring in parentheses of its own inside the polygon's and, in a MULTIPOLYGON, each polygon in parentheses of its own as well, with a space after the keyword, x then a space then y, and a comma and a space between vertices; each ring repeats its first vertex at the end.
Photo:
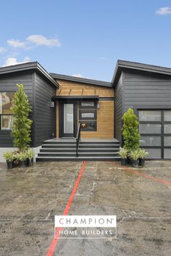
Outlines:
POLYGON ((86 83, 76 83, 71 81, 57 80, 59 88, 57 89, 57 95, 60 96, 92 96, 99 97, 113 97, 114 88, 108 88, 103 86, 87 85, 86 83))

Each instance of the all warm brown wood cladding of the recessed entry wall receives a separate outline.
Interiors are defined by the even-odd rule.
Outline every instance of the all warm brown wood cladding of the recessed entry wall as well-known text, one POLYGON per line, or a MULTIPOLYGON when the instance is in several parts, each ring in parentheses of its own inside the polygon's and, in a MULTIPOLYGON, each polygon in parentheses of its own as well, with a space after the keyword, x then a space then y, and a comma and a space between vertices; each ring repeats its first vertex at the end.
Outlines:
MULTIPOLYGON (((99 96, 97 110, 97 131, 81 131, 82 138, 112 139, 114 138, 114 89, 102 86, 87 85, 58 80, 57 95, 60 96, 99 96)), ((59 108, 57 105, 57 135, 59 136, 59 108)))

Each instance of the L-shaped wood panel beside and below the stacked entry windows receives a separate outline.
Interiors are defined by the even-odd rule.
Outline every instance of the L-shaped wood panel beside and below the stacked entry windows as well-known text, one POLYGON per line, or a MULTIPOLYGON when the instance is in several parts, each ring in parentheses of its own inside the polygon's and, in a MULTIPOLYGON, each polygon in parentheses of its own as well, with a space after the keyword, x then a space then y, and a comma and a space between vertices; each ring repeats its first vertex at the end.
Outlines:
POLYGON ((114 102, 99 102, 97 110, 97 131, 81 131, 84 139, 114 138, 114 102))

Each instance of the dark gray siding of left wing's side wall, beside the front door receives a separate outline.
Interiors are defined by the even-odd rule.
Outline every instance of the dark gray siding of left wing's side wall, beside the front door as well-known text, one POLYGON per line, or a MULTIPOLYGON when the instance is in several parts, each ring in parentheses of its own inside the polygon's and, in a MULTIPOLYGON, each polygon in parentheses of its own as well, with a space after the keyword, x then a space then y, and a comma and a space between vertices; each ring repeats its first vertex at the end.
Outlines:
POLYGON ((35 73, 34 87, 34 146, 40 146, 44 140, 56 136, 56 112, 50 107, 51 97, 56 94, 56 88, 35 73))

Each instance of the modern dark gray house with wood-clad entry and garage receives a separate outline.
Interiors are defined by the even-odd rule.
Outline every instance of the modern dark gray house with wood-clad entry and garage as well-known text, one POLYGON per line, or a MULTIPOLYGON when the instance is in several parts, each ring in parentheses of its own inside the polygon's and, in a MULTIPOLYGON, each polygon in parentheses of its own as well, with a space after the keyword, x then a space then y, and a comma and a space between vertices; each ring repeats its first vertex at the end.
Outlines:
POLYGON ((0 161, 12 148, 12 97, 22 83, 32 112, 37 160, 117 160, 122 115, 138 115, 149 159, 171 159, 171 68, 118 60, 112 82, 48 73, 38 62, 0 68, 0 161), (61 157, 60 157, 61 156, 61 157))

